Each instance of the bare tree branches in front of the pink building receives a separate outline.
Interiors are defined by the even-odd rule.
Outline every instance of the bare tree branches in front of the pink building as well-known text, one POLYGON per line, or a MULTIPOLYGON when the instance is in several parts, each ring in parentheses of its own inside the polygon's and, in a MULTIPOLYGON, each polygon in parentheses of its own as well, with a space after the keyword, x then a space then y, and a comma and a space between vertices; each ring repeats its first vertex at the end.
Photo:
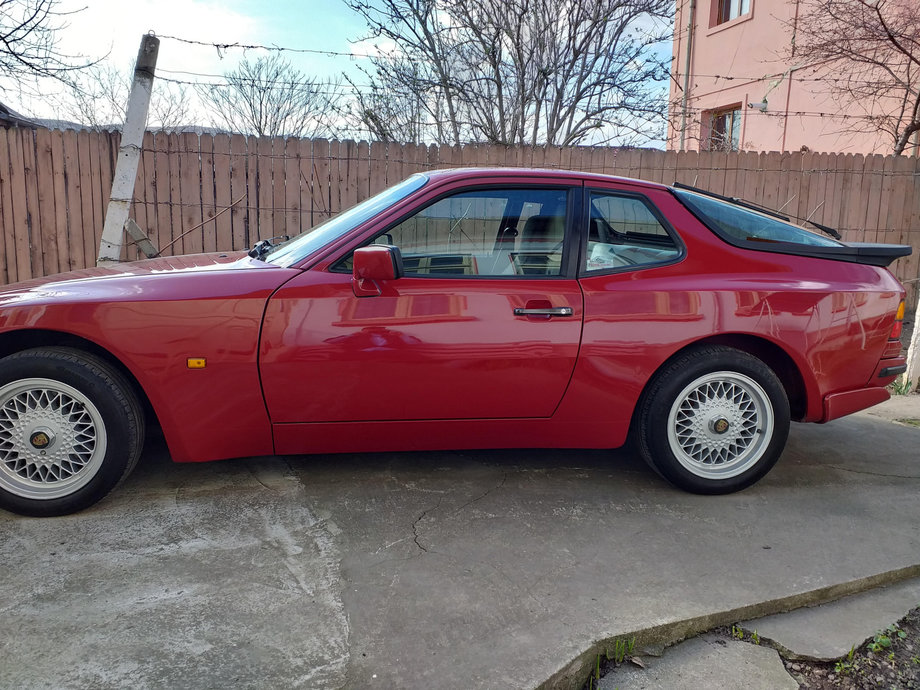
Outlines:
POLYGON ((792 28, 793 57, 825 63, 831 94, 863 108, 861 119, 889 134, 892 152, 902 154, 920 132, 917 0, 804 0, 792 28))

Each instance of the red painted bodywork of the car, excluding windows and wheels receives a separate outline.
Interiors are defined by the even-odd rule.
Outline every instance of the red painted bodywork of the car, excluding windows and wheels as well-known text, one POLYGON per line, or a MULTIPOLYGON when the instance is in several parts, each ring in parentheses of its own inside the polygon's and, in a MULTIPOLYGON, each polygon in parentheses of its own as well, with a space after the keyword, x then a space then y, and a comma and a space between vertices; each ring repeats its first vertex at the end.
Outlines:
POLYGON ((885 269, 729 245, 661 185, 466 170, 432 173, 292 268, 199 255, 10 286, 0 291, 0 344, 14 350, 10 338, 41 329, 104 348, 143 388, 177 461, 600 448, 623 442, 644 386, 670 357, 713 339, 787 358, 802 421, 881 401, 891 378, 879 378, 880 359, 903 295, 885 269), (375 281, 367 297, 350 274, 330 270, 408 211, 492 183, 642 194, 684 255, 580 278, 404 277, 375 281), (572 315, 515 316, 515 307, 572 315), (189 357, 207 367, 188 369, 189 357))

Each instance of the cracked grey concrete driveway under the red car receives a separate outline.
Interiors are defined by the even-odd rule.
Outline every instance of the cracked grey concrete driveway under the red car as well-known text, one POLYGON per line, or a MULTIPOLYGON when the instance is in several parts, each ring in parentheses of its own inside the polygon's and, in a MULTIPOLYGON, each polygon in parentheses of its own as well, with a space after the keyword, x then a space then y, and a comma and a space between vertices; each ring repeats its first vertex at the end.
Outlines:
POLYGON ((920 573, 918 446, 794 425, 765 480, 702 497, 627 451, 174 465, 154 439, 85 513, 0 513, 0 686, 570 686, 620 635, 920 573))

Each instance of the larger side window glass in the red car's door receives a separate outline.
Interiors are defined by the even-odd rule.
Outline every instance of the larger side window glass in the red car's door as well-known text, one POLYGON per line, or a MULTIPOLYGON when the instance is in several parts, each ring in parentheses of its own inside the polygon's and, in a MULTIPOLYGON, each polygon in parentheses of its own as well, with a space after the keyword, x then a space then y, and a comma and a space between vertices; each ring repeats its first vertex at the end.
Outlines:
MULTIPOLYGON (((482 189, 439 199, 377 235, 405 275, 562 274, 565 189, 482 189)), ((336 266, 350 270, 350 257, 336 266)))

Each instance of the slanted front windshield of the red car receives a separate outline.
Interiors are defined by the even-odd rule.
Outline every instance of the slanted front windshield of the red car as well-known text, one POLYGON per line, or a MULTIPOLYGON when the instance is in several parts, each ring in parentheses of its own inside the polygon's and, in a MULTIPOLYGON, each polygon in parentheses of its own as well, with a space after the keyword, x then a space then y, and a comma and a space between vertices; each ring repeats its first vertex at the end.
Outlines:
POLYGON ((412 192, 421 189, 428 182, 428 176, 417 173, 380 194, 365 199, 337 216, 320 223, 315 228, 300 233, 297 237, 279 244, 265 255, 265 260, 287 268, 308 257, 317 249, 337 240, 349 230, 370 220, 397 201, 402 201, 412 192))

